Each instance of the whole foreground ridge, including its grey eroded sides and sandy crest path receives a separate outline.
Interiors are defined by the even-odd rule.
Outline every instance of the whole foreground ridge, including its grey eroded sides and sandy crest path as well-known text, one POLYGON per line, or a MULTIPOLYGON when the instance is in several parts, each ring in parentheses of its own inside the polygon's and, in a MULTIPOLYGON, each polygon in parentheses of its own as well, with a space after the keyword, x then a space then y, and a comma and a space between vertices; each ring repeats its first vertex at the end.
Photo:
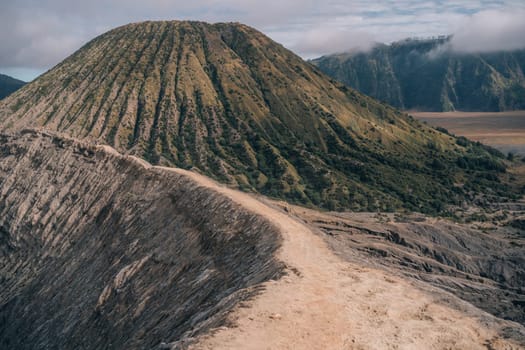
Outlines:
POLYGON ((0 141, 3 348, 525 342, 505 313, 450 293, 510 291, 491 307, 522 317, 506 285, 521 281, 523 239, 508 230, 319 213, 48 131, 0 141))

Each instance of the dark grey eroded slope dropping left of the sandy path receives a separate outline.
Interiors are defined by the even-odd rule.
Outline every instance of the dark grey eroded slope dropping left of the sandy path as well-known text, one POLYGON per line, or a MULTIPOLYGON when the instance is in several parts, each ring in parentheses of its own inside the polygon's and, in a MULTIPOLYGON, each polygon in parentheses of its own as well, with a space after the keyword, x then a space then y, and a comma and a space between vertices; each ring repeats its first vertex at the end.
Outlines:
POLYGON ((282 271, 268 221, 107 148, 0 136, 0 348, 151 348, 282 271))

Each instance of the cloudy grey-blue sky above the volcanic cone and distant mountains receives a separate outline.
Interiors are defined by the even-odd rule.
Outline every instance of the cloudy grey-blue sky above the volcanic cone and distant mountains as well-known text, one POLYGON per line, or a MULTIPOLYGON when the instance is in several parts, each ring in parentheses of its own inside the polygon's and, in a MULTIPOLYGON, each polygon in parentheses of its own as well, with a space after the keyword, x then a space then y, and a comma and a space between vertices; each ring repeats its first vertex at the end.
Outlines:
POLYGON ((454 34, 478 52, 525 47, 524 0, 7 0, 0 73, 31 80, 113 27, 160 19, 251 25, 304 58, 454 34))

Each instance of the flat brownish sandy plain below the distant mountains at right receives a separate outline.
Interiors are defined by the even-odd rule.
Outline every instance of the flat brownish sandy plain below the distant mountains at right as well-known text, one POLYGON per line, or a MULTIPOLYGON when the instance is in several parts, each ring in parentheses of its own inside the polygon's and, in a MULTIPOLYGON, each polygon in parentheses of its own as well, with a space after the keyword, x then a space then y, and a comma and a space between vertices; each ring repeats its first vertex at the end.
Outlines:
POLYGON ((525 111, 509 112, 408 112, 433 126, 525 156, 525 111))

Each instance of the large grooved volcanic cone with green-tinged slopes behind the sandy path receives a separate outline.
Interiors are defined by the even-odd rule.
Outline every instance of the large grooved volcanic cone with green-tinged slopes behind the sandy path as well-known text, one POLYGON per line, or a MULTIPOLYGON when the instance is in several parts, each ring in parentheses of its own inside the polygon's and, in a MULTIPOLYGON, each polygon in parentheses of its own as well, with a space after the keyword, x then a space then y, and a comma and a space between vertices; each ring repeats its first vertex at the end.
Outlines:
POLYGON ((0 102, 0 129, 26 127, 329 209, 436 213, 510 193, 497 154, 331 81, 241 24, 103 34, 0 102))

